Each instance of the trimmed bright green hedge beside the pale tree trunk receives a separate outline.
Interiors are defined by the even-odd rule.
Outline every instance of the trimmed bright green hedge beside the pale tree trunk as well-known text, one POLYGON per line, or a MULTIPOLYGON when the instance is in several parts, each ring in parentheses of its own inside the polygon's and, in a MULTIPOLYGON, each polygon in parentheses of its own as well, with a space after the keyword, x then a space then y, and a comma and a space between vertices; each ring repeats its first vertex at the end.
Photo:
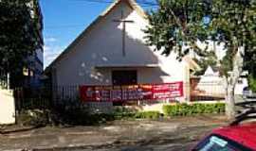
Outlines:
POLYGON ((216 104, 176 104, 163 107, 164 114, 167 116, 190 116, 195 114, 219 114, 225 112, 224 103, 216 104))

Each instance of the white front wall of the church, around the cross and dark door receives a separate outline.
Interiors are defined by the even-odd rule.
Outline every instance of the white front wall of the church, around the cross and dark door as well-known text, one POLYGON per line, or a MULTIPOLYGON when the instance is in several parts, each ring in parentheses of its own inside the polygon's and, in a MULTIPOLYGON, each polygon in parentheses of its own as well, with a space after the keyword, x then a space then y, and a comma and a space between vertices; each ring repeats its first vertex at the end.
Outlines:
MULTIPOLYGON (((147 20, 137 14, 126 3, 118 7, 94 25, 89 33, 82 38, 68 55, 61 59, 56 69, 56 83, 66 85, 111 85, 111 71, 121 68, 96 68, 97 66, 130 66, 137 69, 137 82, 166 83, 184 81, 189 83, 187 63, 179 62, 172 54, 164 57, 160 52, 144 44, 142 31, 148 25, 147 20), (126 20, 135 23, 126 26, 126 56, 122 57, 121 24, 113 22, 120 19, 121 10, 126 20), (137 67, 156 64, 158 67, 137 67), (187 73, 186 73, 187 72, 187 73), (185 81, 186 80, 186 81, 185 81)), ((123 70, 123 69, 122 69, 123 70)))

